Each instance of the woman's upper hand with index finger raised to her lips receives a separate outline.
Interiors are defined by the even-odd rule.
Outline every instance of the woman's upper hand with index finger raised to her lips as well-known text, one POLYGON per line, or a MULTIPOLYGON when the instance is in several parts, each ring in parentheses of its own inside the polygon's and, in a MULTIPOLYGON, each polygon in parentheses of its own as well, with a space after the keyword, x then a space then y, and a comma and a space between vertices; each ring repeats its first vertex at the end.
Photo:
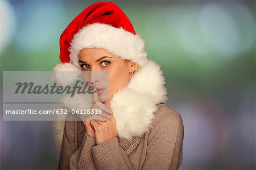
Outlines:
POLYGON ((101 103, 100 100, 98 99, 98 92, 94 92, 93 106, 91 109, 93 109, 94 114, 86 115, 82 122, 84 123, 86 134, 94 138, 95 130, 92 128, 91 121, 92 120, 96 120, 96 121, 109 120, 110 100, 105 101, 105 103, 101 103), (101 109, 101 112, 100 112, 100 109, 101 109), (95 114, 95 113, 100 113, 100 114, 95 114))

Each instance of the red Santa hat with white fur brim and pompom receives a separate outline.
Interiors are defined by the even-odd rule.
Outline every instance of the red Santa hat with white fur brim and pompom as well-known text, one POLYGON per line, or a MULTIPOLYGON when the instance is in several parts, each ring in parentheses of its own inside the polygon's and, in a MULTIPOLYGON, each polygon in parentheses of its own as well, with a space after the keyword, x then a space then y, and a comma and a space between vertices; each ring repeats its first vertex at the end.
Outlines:
POLYGON ((103 48, 141 66, 147 61, 144 40, 113 2, 96 2, 86 7, 61 34, 61 63, 53 69, 54 82, 66 86, 78 79, 78 54, 84 48, 103 48))

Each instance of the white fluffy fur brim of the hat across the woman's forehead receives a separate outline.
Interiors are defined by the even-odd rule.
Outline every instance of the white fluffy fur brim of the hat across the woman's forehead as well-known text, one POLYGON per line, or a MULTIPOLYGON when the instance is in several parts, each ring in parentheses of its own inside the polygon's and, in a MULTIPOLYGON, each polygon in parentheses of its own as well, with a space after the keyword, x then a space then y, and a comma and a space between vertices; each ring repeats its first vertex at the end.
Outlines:
POLYGON ((131 59, 139 65, 146 62, 144 40, 125 29, 94 23, 81 28, 71 42, 70 57, 78 66, 78 54, 84 48, 104 48, 115 56, 131 59))

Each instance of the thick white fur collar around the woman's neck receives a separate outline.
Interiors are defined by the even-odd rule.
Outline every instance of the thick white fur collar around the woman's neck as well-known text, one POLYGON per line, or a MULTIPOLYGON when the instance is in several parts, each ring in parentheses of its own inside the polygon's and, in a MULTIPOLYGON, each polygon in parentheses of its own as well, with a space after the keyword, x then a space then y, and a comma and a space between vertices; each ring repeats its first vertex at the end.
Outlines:
MULTIPOLYGON (((119 138, 130 140, 135 136, 141 137, 143 133, 150 130, 157 105, 167 100, 164 83, 160 66, 147 59, 147 62, 141 66, 141 70, 133 75, 129 84, 113 95, 110 107, 115 117, 119 138)), ((85 103, 76 103, 72 105, 72 109, 92 107, 92 95, 77 95, 77 97, 79 101, 85 101, 85 103)), ((61 101, 64 104, 67 103, 65 107, 71 108, 70 102, 78 100, 77 97, 65 96, 61 101)), ((55 121, 57 150, 60 150, 63 130, 63 121, 55 121)))

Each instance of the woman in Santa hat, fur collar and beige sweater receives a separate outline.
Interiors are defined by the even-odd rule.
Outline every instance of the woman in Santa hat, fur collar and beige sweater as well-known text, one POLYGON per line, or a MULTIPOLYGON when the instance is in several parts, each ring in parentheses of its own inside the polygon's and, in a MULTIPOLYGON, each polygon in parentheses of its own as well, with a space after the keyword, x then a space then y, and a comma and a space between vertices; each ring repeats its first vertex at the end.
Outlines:
POLYGON ((166 104, 160 66, 146 56, 144 41, 112 2, 88 6, 68 25, 60 37, 62 63, 53 69, 52 78, 65 86, 82 70, 82 78, 97 92, 62 101, 68 109, 102 114, 80 119, 69 114, 64 128, 55 122, 56 142, 61 143, 58 169, 180 167, 183 121, 166 104))

